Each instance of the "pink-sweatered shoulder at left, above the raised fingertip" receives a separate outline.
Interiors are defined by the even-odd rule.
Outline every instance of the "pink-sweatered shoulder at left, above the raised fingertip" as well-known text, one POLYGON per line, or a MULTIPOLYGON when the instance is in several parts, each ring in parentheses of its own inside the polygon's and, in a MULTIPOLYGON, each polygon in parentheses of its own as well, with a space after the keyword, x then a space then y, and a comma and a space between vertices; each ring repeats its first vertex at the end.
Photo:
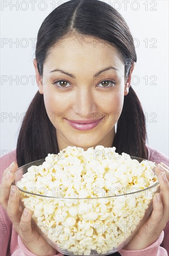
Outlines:
POLYGON ((0 156, 0 181, 4 170, 10 166, 10 164, 16 162, 16 149, 4 150, 3 155, 0 156))

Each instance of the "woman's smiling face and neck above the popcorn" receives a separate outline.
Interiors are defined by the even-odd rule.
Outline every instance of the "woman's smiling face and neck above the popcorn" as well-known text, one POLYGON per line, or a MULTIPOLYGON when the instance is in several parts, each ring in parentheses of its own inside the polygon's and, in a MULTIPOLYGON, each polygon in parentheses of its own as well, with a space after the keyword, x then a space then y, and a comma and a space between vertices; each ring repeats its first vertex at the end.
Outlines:
POLYGON ((115 123, 130 86, 124 75, 117 48, 101 40, 86 36, 79 41, 72 36, 52 48, 44 62, 39 92, 44 94, 47 114, 56 128, 59 150, 112 147, 115 123), (90 124, 71 120, 89 120, 90 124))

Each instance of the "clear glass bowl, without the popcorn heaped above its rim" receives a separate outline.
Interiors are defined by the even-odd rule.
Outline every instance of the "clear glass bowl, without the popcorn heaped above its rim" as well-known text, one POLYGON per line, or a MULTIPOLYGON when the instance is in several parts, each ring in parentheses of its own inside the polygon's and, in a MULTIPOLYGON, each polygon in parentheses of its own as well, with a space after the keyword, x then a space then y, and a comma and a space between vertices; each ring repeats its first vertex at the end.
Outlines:
MULTIPOLYGON (((145 160, 132 156, 131 159, 145 160)), ((16 185, 29 167, 44 161, 20 167, 13 183, 16 185)), ((114 195, 113 188, 110 196, 94 198, 65 198, 62 189, 52 188, 53 195, 49 196, 45 188, 38 190, 42 195, 19 188, 20 204, 23 209, 32 210, 32 224, 57 251, 70 256, 97 256, 119 251, 138 233, 152 212, 159 182, 143 190, 133 189, 132 193, 125 189, 119 195, 114 195)))

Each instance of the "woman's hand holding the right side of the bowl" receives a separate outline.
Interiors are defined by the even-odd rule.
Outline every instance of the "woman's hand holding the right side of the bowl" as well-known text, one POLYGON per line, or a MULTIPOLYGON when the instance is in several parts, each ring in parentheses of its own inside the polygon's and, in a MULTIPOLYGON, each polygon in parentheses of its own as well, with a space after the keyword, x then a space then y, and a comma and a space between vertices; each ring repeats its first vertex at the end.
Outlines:
POLYGON ((169 221, 169 167, 161 162, 155 170, 161 191, 153 197, 151 216, 140 228, 138 234, 123 248, 125 250, 141 250, 150 246, 158 239, 169 221))

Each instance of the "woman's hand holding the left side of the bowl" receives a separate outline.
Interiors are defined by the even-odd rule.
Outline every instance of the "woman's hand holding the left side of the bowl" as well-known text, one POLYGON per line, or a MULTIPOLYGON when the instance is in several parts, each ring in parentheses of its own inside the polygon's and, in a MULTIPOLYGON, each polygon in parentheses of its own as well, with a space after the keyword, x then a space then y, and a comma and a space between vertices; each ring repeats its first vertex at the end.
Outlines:
POLYGON ((19 189, 16 186, 11 187, 15 179, 17 168, 17 163, 13 162, 13 164, 4 171, 0 184, 0 203, 7 211, 22 242, 31 253, 38 256, 55 255, 56 250, 44 241, 42 236, 38 234, 38 231, 31 225, 31 210, 25 208, 23 211, 22 208, 19 207, 19 189))

